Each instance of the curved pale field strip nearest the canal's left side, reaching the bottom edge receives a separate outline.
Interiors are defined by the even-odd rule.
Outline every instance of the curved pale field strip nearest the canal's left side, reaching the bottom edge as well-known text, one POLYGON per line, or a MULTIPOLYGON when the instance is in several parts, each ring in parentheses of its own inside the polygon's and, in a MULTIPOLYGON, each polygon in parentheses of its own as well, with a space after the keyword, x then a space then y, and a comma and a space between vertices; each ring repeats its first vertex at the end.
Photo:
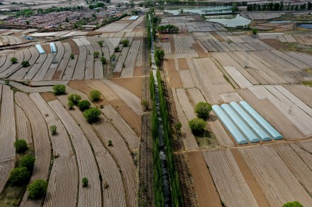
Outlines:
POLYGON ((112 141, 113 146, 108 146, 108 148, 121 167, 128 200, 127 206, 134 207, 136 205, 135 203, 137 195, 136 170, 126 143, 123 141, 123 138, 120 136, 120 134, 118 134, 116 129, 114 129, 113 126, 107 122, 96 125, 94 128, 104 143, 107 144, 108 140, 112 141))

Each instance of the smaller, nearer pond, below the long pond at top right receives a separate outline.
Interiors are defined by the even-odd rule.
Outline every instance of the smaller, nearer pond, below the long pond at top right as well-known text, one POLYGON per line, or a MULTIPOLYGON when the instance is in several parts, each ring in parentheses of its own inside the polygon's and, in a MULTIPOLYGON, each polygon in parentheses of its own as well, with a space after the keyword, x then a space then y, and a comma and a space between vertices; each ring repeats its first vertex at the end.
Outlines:
POLYGON ((205 16, 205 18, 210 22, 221 23, 228 28, 235 28, 238 26, 248 25, 251 20, 247 19, 239 14, 233 15, 220 15, 220 16, 205 16))

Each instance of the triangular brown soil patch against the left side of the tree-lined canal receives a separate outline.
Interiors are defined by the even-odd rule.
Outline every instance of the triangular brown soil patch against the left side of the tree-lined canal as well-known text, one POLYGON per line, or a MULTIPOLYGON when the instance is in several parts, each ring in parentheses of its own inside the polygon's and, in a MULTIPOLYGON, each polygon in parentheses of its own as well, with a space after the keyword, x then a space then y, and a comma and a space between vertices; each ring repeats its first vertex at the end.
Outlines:
POLYGON ((123 88, 126 88, 134 95, 141 98, 142 95, 142 77, 138 78, 118 78, 118 79, 110 79, 111 82, 120 85, 123 88))

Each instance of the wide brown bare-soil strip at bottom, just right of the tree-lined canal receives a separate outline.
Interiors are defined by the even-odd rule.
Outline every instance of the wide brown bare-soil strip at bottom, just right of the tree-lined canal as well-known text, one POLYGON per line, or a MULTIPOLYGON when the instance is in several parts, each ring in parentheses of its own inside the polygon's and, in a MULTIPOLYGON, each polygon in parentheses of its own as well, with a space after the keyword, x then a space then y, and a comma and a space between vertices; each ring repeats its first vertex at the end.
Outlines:
POLYGON ((199 206, 221 207, 221 199, 200 151, 186 153, 199 206))

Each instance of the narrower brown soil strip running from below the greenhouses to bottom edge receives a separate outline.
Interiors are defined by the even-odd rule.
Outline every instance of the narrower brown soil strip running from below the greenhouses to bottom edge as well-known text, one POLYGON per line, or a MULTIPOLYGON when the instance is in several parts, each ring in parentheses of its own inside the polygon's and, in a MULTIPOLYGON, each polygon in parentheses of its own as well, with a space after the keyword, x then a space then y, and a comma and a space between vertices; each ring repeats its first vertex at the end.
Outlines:
POLYGON ((240 155, 240 152, 238 151, 237 148, 231 148, 230 149, 231 153, 233 154, 233 157, 238 164, 238 167, 240 168, 240 172, 242 172, 243 177, 245 181, 248 184, 248 187, 250 188, 253 196, 255 197, 257 203, 259 206, 268 206, 269 203, 267 199, 265 198, 262 189, 260 188, 259 184, 255 180, 255 177, 253 177, 251 171, 246 165, 246 162, 244 161, 242 155, 240 155))

